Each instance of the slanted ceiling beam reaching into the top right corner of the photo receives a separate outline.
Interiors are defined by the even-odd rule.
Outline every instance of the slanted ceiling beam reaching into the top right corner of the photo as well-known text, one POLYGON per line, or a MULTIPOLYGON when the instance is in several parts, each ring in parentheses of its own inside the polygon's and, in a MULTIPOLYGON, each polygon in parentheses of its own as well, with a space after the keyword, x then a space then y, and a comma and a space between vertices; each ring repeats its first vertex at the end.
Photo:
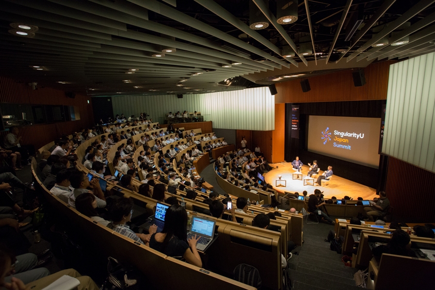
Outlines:
POLYGON ((377 41, 388 35, 393 30, 397 29, 399 26, 401 26, 403 23, 408 21, 410 18, 416 16, 421 11, 429 7, 435 2, 435 0, 420 0, 417 4, 412 6, 409 10, 407 10, 405 13, 403 13, 402 16, 399 16, 396 20, 393 22, 390 22, 386 28, 384 28, 382 31, 378 32, 377 34, 373 35, 371 40, 367 41, 365 44, 361 46, 361 48, 358 49, 358 51, 355 51, 350 56, 346 58, 346 61, 349 62, 353 58, 355 58, 358 54, 360 54, 362 51, 366 50, 367 48, 370 48, 373 44, 375 44, 377 41))

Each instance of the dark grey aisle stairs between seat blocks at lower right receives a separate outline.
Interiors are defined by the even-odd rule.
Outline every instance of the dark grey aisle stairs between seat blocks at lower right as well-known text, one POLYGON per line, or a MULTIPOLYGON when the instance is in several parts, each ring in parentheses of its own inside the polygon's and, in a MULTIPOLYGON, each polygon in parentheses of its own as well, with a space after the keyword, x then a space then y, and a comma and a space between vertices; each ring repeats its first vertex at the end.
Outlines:
POLYGON ((356 290, 354 268, 344 266, 341 254, 329 249, 324 242, 329 230, 334 226, 327 224, 304 224, 304 244, 297 247, 289 260, 292 289, 297 290, 356 290))

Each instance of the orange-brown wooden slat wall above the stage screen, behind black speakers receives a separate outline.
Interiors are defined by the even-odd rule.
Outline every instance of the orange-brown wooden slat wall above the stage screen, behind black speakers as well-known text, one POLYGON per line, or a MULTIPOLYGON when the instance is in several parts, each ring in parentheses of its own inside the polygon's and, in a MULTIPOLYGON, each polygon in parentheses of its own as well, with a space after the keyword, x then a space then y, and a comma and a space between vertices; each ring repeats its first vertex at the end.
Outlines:
POLYGON ((366 84, 355 87, 352 70, 308 78, 311 91, 303 93, 300 81, 276 83, 275 103, 360 101, 387 98, 388 67, 394 62, 371 64, 364 68, 366 84))

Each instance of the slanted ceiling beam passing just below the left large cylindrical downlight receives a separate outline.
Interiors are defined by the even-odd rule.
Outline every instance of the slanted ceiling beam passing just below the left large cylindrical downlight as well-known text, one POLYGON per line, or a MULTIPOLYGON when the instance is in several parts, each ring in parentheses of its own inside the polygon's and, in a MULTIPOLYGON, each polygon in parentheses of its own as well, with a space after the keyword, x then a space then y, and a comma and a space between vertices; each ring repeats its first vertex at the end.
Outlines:
MULTIPOLYGON (((277 48, 274 44, 272 44, 269 40, 267 40, 265 37, 263 37, 260 33, 256 32, 253 29, 250 29, 248 25, 246 25, 244 22, 242 22, 239 18, 229 13, 227 10, 225 10, 222 6, 217 4, 213 0, 194 0, 195 2, 199 3, 203 7, 207 8, 217 16, 220 16, 222 19, 226 20, 228 23, 232 24, 234 27, 240 29, 242 32, 245 32, 255 40, 257 40, 259 43, 264 45, 265 47, 271 49, 276 54, 279 54, 282 56, 281 49, 277 48)), ((287 59, 286 59, 287 60, 287 59)), ((289 59, 290 63, 297 66, 296 61, 293 59, 289 59)))

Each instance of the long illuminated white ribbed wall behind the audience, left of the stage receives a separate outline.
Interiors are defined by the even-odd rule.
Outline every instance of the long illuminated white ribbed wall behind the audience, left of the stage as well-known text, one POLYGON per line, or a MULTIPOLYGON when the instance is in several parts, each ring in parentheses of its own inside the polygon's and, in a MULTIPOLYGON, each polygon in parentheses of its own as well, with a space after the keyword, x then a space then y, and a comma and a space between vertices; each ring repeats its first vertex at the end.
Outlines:
POLYGON ((275 97, 268 87, 209 94, 112 97, 113 113, 138 116, 149 113, 163 122, 167 113, 201 112, 213 128, 268 131, 274 129, 275 97))

